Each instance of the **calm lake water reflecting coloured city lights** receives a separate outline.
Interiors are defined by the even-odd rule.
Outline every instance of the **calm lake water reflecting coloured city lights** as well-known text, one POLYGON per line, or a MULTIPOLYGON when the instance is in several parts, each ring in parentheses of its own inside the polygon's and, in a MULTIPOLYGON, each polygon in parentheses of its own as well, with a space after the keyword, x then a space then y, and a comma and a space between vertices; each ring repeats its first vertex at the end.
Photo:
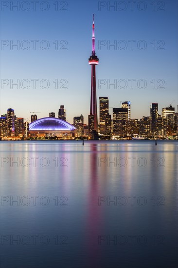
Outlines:
POLYGON ((1 268, 177 267, 177 141, 0 149, 1 268))

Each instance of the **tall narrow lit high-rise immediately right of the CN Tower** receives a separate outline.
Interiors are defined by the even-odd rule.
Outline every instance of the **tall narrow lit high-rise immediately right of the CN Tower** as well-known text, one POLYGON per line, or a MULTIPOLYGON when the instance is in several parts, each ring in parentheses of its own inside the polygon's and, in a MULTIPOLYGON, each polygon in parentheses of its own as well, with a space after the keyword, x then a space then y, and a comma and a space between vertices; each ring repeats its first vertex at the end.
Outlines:
POLYGON ((105 134, 106 115, 109 113, 108 97, 99 97, 100 105, 100 134, 105 134))

